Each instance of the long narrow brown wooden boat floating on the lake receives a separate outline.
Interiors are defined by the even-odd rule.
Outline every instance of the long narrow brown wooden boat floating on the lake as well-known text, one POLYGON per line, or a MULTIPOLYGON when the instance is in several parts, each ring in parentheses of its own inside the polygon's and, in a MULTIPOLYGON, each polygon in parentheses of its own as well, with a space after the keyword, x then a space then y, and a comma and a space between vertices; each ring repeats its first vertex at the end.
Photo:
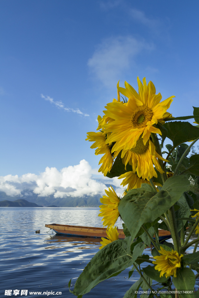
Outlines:
MULTIPOLYGON (((69 235, 78 237, 94 237, 94 238, 107 238, 106 228, 95 228, 90 226, 70 226, 64 224, 46 224, 47 228, 53 229, 59 235, 69 235)), ((125 235, 123 229, 118 229, 118 238, 124 239, 125 235)), ((159 241, 171 238, 168 231, 159 230, 159 241)))

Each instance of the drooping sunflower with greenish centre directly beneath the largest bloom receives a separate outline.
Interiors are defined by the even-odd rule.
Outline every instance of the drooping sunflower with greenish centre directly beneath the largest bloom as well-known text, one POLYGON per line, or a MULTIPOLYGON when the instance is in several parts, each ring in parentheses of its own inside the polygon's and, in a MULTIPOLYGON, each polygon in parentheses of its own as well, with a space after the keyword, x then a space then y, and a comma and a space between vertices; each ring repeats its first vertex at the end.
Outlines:
POLYGON ((125 164, 125 169, 127 163, 132 165, 133 173, 137 173, 138 177, 143 179, 151 179, 153 176, 157 177, 154 166, 158 172, 163 173, 163 170, 158 162, 158 159, 166 161, 155 151, 155 146, 149 139, 144 145, 143 139, 140 137, 136 142, 136 146, 130 150, 122 150, 121 153, 122 162, 125 164))

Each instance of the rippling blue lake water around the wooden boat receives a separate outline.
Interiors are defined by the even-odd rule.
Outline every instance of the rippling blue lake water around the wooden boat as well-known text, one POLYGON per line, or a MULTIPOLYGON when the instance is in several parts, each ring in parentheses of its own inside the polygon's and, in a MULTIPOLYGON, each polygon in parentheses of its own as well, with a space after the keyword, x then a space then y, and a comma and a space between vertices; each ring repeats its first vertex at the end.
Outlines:
MULTIPOLYGON (((1 207, 0 254, 1 288, 12 290, 11 297, 69 297, 68 282, 75 284, 81 271, 98 252, 100 238, 58 236, 45 224, 69 224, 102 227, 99 208, 22 208, 1 207), (35 231, 40 230, 40 234, 35 231), (13 290, 19 290, 13 295, 13 290), (28 290, 21 295, 21 290, 28 290), (41 291, 42 294, 30 294, 41 291), (61 292, 61 295, 47 292, 61 292), (46 294, 43 294, 46 292, 46 294)), ((116 223, 122 228, 120 221, 116 223)), ((145 253, 150 255, 150 248, 145 253)), ((145 266, 145 263, 143 263, 145 266)), ((148 264, 146 264, 147 266, 148 264)), ((116 277, 97 285, 84 298, 122 298, 130 286, 139 279, 129 268, 116 277)))

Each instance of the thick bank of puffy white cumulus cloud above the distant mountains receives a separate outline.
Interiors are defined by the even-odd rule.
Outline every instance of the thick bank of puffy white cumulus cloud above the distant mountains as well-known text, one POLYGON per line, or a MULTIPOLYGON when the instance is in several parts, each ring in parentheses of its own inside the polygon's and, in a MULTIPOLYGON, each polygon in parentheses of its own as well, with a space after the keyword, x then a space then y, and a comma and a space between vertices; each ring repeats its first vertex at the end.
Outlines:
POLYGON ((102 174, 93 175, 90 164, 85 160, 81 160, 79 164, 64 167, 57 170, 55 167, 46 167, 40 175, 24 174, 1 176, 0 191, 4 191, 7 195, 21 195, 22 191, 29 191, 41 197, 53 195, 54 198, 83 197, 84 195, 103 195, 105 184, 111 183, 116 186, 116 193, 122 195, 120 181, 117 179, 108 179, 102 174), (104 177, 104 178, 103 178, 104 177))

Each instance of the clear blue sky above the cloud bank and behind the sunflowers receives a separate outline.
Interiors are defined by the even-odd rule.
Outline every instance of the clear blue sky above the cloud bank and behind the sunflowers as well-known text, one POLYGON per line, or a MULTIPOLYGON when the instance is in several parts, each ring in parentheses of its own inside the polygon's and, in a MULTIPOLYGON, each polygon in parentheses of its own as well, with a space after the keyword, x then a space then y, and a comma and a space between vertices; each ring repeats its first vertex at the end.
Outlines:
POLYGON ((163 100, 175 95, 169 112, 192 115, 198 9, 198 1, 1 1, 0 176, 41 176, 83 159, 97 173, 86 133, 117 97, 118 80, 137 90, 137 76, 146 77, 163 100))

